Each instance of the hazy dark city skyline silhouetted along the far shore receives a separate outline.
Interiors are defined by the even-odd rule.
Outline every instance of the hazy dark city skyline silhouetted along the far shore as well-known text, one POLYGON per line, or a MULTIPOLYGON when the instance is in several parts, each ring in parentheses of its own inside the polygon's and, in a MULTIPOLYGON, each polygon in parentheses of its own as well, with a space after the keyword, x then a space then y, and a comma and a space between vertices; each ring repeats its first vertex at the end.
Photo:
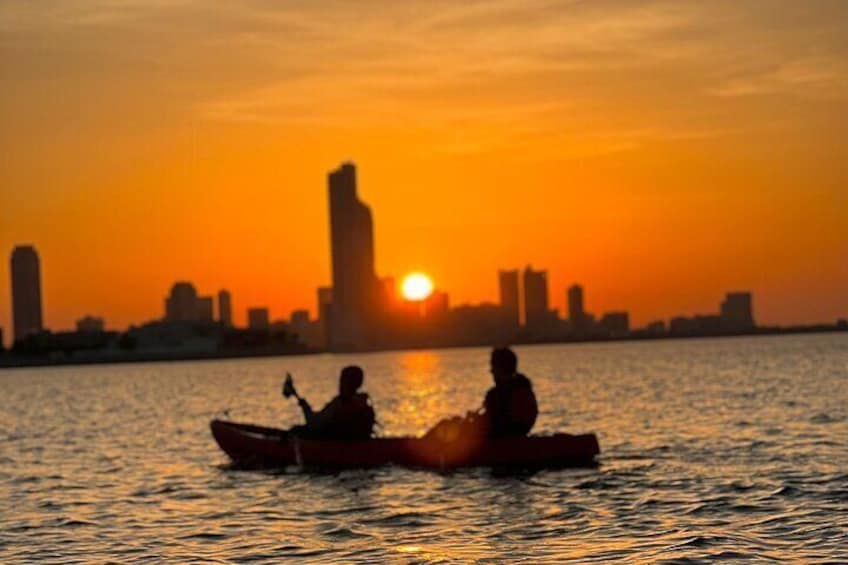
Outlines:
MULTIPOLYGON (((459 304, 453 309, 444 289, 433 288, 425 274, 413 273, 406 277, 403 286, 410 280, 420 279, 415 281, 419 288, 413 289, 415 296, 403 289, 402 294, 407 295, 405 299, 409 302, 406 306, 400 298, 395 275, 380 276, 375 270, 374 217, 368 204, 359 199, 357 188, 356 165, 351 161, 342 163, 327 175, 327 224, 334 286, 316 287, 316 318, 312 319, 306 308, 292 310, 290 318, 284 318, 272 317, 267 306, 250 306, 246 309, 247 323, 243 326, 249 332, 270 332, 270 336, 282 331, 300 336, 301 342, 309 347, 345 351, 426 343, 454 344, 462 343, 463 339, 532 342, 720 335, 758 329, 750 291, 727 292, 717 313, 677 313, 667 321, 653 319, 644 327, 636 327, 631 325, 628 310, 608 310, 598 316, 589 312, 584 289, 575 283, 563 289, 565 308, 560 311, 550 307, 548 271, 534 270, 529 264, 523 270, 497 271, 497 303, 459 304), (420 287, 422 284, 426 290, 420 287), (412 307, 414 302, 419 305, 412 307), (465 337, 463 331, 456 333, 456 325, 465 326, 465 337)), ((13 249, 10 278, 15 304, 14 340, 37 334, 42 329, 55 329, 42 323, 40 261, 33 246, 20 245, 13 249)), ((220 343, 253 339, 233 332, 237 328, 232 319, 232 293, 227 289, 219 290, 217 308, 215 298, 200 295, 191 281, 176 281, 164 299, 162 317, 136 321, 130 327, 141 324, 139 330, 149 344, 157 340, 164 340, 162 344, 173 339, 182 340, 184 337, 178 336, 189 335, 185 334, 189 326, 196 326, 201 334, 204 327, 219 327, 213 334, 224 336, 215 338, 224 339, 220 343), (229 332, 230 337, 221 331, 229 332)), ((844 319, 840 318, 839 324, 844 324, 844 319)), ((77 319, 76 328, 77 332, 82 332, 77 338, 60 331, 62 336, 57 339, 85 340, 92 333, 103 334, 106 329, 103 317, 91 314, 77 319)), ((129 339, 137 340, 137 331, 129 339)), ((207 343, 211 345, 212 342, 207 343)))

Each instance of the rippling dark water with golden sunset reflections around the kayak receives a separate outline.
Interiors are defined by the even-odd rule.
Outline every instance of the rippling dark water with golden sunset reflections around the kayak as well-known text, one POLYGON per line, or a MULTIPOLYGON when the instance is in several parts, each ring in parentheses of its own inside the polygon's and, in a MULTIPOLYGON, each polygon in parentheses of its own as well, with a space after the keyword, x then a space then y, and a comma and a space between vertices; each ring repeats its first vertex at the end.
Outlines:
POLYGON ((848 562, 848 335, 517 349, 598 469, 223 467, 361 363, 384 435, 479 406, 484 349, 0 372, 0 562, 848 562))

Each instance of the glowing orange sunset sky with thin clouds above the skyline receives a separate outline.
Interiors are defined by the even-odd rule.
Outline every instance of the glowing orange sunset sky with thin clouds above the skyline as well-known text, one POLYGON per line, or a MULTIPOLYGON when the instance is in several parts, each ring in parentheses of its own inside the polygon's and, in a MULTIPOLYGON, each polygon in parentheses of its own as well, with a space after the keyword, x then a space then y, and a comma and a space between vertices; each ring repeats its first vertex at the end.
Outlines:
POLYGON ((636 324, 750 289, 848 316, 848 4, 191 0, 0 4, 0 326, 33 243, 45 318, 314 312, 326 173, 352 159, 381 275, 452 303, 497 269, 636 324))

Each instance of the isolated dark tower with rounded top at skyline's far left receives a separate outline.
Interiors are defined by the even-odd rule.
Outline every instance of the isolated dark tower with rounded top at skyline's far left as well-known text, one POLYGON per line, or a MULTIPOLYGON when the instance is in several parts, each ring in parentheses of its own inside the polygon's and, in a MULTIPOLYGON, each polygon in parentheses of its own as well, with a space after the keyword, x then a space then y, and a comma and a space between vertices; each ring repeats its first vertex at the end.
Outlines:
POLYGON ((19 245, 12 250, 11 270, 14 340, 19 341, 43 329, 41 267, 32 245, 19 245))

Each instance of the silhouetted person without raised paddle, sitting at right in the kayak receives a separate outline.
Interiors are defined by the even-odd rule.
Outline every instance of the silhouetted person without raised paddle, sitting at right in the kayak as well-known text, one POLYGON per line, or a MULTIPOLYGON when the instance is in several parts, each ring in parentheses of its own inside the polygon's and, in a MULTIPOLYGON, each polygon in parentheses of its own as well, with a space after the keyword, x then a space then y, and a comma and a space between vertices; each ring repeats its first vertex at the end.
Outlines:
POLYGON ((518 357, 508 347, 492 350, 490 370, 495 386, 483 401, 482 431, 490 438, 526 436, 539 415, 530 379, 518 372, 518 357))

